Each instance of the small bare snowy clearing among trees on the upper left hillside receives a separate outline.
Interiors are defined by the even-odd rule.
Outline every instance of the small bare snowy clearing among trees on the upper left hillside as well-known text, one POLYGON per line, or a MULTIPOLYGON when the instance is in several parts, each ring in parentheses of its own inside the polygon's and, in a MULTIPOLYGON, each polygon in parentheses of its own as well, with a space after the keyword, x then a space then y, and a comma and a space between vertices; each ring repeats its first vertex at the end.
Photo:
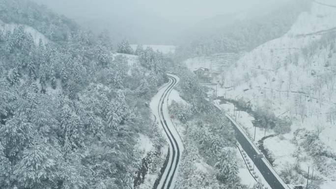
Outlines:
POLYGON ((3 31, 13 31, 14 28, 18 26, 23 26, 25 28, 25 31, 31 34, 36 45, 38 45, 40 39, 42 40, 44 45, 48 43, 48 38, 33 27, 27 25, 7 24, 0 20, 0 28, 3 29, 3 31))

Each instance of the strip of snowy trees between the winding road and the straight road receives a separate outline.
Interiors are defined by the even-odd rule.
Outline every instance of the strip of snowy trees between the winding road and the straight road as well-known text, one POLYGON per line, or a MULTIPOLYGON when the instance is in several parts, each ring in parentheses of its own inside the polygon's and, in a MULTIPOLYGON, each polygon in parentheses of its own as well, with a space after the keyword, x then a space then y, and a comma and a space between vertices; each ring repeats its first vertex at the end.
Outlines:
POLYGON ((180 126, 184 151, 175 189, 247 189, 240 182, 236 141, 229 120, 207 98, 207 89, 188 70, 176 69, 180 102, 169 112, 180 126))

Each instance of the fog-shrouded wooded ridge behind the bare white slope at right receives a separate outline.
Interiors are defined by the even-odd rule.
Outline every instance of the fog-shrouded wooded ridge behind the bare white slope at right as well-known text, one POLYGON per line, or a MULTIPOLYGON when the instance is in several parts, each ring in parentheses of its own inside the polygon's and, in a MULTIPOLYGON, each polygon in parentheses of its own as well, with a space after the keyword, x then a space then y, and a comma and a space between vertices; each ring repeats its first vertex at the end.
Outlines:
POLYGON ((216 53, 251 51, 285 34, 298 15, 308 8, 309 0, 285 1, 276 9, 268 11, 224 15, 221 19, 222 26, 218 23, 218 18, 214 18, 215 21, 206 20, 199 28, 193 27, 189 31, 184 44, 176 52, 178 57, 183 59, 216 53), (212 22, 216 22, 216 26, 210 25, 208 30, 199 33, 199 30, 207 27, 207 23, 212 22))

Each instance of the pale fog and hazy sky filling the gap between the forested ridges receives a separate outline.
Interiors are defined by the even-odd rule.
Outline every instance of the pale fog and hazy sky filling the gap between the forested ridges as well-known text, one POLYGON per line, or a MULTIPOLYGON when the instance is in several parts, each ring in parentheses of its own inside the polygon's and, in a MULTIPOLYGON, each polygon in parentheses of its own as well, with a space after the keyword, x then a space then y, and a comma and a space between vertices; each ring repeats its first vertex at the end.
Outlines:
POLYGON ((131 43, 166 45, 177 44, 181 36, 190 32, 188 28, 198 22, 272 4, 270 0, 34 1, 46 4, 96 33, 108 29, 116 41, 127 38, 131 43))

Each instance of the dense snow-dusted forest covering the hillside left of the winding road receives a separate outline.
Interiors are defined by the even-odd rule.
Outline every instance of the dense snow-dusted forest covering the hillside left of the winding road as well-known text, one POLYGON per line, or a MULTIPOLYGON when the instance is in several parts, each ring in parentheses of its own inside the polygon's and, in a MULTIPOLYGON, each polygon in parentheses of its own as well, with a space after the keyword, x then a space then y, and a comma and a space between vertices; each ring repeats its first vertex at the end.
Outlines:
POLYGON ((148 48, 131 64, 107 34, 26 0, 0 0, 0 20, 17 25, 0 30, 0 188, 133 188, 138 134, 162 146, 146 105, 168 59, 148 48))

